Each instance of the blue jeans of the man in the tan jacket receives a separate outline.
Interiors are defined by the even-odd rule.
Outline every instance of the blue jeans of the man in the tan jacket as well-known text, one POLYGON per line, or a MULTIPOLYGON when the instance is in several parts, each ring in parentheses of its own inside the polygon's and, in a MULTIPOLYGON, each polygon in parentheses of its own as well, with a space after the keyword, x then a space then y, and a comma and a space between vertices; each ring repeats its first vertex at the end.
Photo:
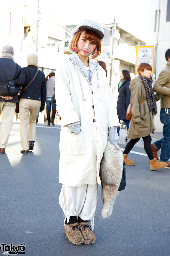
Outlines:
MULTIPOLYGON (((170 113, 170 109, 169 110, 170 113)), ((170 115, 168 115, 165 109, 160 109, 160 121, 164 124, 163 126, 163 138, 153 143, 156 150, 160 150, 160 161, 169 162, 170 158, 170 115)))

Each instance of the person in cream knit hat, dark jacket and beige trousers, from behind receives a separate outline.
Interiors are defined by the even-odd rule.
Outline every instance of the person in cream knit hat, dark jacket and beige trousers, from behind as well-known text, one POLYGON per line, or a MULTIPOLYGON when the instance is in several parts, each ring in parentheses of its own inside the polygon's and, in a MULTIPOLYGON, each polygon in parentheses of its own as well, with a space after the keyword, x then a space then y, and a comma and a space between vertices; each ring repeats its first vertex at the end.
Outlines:
POLYGON ((33 150, 36 135, 36 117, 38 112, 44 110, 46 101, 46 77, 44 73, 37 68, 38 55, 30 53, 27 56, 28 66, 22 68, 21 73, 16 80, 18 85, 22 85, 21 97, 19 100, 19 119, 20 119, 20 137, 21 153, 28 154, 28 150, 33 150), (32 83, 27 87, 30 81, 38 73, 32 83), (23 92, 23 93, 22 93, 23 92))

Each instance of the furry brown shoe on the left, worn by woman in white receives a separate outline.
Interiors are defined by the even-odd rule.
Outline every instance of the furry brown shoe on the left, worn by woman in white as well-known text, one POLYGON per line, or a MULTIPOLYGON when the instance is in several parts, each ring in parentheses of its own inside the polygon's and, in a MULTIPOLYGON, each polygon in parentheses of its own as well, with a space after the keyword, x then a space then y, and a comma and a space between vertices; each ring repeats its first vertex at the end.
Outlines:
POLYGON ((66 237, 72 244, 82 245, 85 244, 84 238, 80 231, 79 223, 66 224, 64 226, 66 237))

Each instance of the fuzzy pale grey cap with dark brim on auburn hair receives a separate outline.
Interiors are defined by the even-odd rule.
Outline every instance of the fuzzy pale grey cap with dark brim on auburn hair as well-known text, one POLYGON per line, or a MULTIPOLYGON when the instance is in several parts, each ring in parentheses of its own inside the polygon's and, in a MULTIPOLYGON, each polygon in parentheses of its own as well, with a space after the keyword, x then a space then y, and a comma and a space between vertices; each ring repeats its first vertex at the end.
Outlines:
POLYGON ((70 35, 71 37, 69 42, 71 42, 75 32, 77 32, 80 29, 90 29, 95 31, 101 38, 101 46, 103 45, 104 28, 100 23, 96 22, 95 20, 84 20, 79 25, 77 25, 71 32, 71 35, 70 35))

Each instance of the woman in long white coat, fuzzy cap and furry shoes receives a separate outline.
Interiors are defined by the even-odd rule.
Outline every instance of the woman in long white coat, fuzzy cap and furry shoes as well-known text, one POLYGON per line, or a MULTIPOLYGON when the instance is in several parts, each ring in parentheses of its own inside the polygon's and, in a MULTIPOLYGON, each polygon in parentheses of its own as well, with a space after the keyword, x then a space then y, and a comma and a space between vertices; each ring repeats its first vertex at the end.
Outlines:
POLYGON ((96 241, 92 230, 100 162, 108 133, 113 144, 118 140, 119 119, 106 72, 89 57, 101 53, 103 37, 99 23, 85 20, 72 31, 69 48, 73 54, 56 68, 56 103, 61 115, 60 206, 66 236, 76 245, 96 241))

